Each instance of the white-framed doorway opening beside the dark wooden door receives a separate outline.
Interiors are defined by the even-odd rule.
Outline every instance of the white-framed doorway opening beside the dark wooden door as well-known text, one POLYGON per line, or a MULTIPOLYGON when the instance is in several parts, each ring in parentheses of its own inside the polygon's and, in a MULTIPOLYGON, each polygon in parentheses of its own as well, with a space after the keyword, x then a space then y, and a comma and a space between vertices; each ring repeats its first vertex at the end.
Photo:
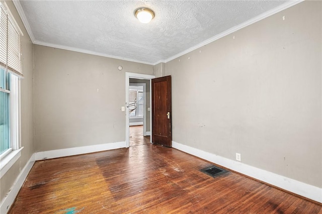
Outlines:
POLYGON ((125 73, 126 147, 150 143, 151 79, 154 75, 125 73))

